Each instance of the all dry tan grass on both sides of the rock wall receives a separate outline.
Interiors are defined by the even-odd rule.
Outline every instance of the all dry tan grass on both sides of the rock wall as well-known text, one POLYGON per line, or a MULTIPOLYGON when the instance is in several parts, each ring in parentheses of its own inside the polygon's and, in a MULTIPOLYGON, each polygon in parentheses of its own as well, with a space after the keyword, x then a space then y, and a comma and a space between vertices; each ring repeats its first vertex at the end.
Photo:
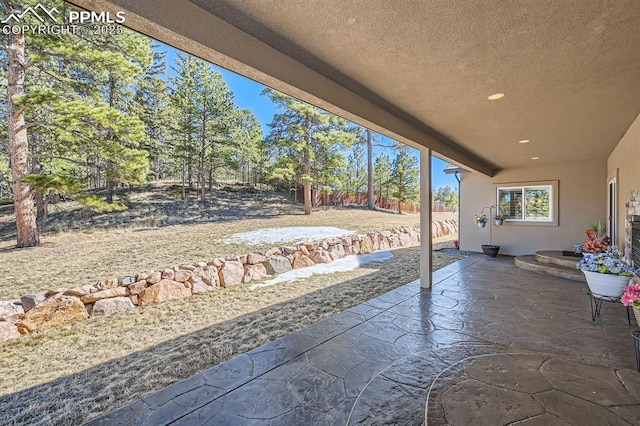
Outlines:
MULTIPOLYGON (((221 205, 223 196, 218 197, 221 205)), ((299 206, 273 195, 266 205, 264 199, 245 199, 243 209, 230 208, 233 200, 224 208, 182 205, 178 210, 193 210, 190 216, 158 219, 164 210, 152 206, 148 195, 141 197, 134 200, 139 203, 135 209, 115 220, 63 212, 52 224, 65 231, 45 234, 41 247, 24 250, 11 249, 8 219, 0 211, 0 300, 266 248, 216 242, 237 232, 280 226, 364 232, 418 222, 417 215, 359 208, 321 209, 304 216, 298 214, 299 206), (65 225, 65 220, 71 222, 65 225), (146 220, 154 224, 142 225, 146 220)), ((444 246, 452 244, 441 241, 435 248, 444 246)), ((434 269, 459 258, 436 252, 434 269)), ((411 282, 418 269, 419 249, 398 249, 385 262, 353 271, 254 291, 240 285, 1 344, 0 424, 80 424, 411 282)))

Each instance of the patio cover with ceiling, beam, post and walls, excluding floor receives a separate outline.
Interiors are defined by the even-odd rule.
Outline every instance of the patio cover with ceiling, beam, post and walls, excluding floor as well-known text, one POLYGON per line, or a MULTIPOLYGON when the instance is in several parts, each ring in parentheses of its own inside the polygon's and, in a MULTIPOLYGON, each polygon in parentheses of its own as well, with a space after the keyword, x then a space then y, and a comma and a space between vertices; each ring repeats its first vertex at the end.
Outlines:
POLYGON ((461 249, 569 250, 603 220, 631 261, 637 1, 69 1, 123 13, 133 30, 420 149, 422 287, 432 154, 471 171, 461 249), (536 194, 542 211, 515 205, 536 194), (475 226, 487 212, 506 226, 475 226))

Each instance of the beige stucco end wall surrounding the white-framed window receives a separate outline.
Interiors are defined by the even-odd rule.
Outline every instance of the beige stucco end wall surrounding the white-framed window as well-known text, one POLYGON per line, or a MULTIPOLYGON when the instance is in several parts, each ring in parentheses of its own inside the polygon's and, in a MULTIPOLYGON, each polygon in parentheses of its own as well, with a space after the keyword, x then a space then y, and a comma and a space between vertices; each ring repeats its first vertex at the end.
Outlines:
MULTIPOLYGON (((640 126, 639 126, 640 129, 640 126)), ((636 157, 640 158, 640 157, 636 157)), ((594 220, 605 219, 607 162, 597 160, 573 164, 554 164, 525 169, 506 169, 493 178, 479 173, 466 173, 461 182, 460 248, 481 251, 492 243, 500 246, 500 254, 533 254, 538 250, 573 250, 584 240, 584 230, 594 220), (496 204, 494 184, 558 180, 558 226, 518 225, 492 221, 485 228, 473 223, 473 216, 485 206, 496 204)))

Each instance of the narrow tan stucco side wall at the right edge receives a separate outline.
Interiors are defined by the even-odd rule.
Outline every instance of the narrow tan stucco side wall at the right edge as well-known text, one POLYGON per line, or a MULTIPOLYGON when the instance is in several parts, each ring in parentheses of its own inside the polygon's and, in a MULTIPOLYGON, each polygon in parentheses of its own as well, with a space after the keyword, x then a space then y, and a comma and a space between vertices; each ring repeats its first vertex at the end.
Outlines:
POLYGON ((618 232, 617 242, 624 248, 625 219, 631 191, 640 189, 640 115, 631 124, 618 146, 607 160, 607 177, 617 176, 618 182, 618 232))

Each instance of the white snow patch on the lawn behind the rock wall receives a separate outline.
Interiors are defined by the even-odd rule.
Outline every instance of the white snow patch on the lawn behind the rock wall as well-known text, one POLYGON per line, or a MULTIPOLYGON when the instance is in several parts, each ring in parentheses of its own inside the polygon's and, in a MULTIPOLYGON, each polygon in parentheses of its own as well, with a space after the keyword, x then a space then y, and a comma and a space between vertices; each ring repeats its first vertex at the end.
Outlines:
POLYGON ((233 234, 224 240, 224 243, 245 244, 277 244, 277 243, 304 243, 311 240, 340 237, 355 234, 348 229, 334 228, 332 226, 290 226, 284 228, 264 228, 257 231, 241 232, 233 234))

